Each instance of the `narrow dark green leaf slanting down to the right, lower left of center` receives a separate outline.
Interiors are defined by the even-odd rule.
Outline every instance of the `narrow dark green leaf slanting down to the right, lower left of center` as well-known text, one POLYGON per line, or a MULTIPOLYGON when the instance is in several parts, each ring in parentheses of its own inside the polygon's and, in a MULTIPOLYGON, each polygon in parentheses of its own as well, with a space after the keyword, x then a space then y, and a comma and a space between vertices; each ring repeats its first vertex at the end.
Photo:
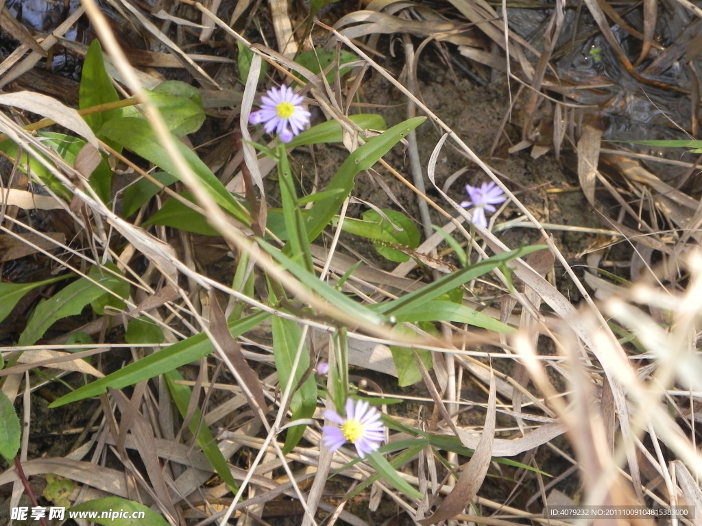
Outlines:
MULTIPOLYGON (((178 407, 178 412, 180 416, 185 418, 188 414, 190 407, 190 398, 192 398, 192 389, 190 387, 180 384, 178 382, 183 382, 185 378, 180 375, 180 372, 176 370, 168 371, 164 373, 166 378, 166 384, 168 385, 168 391, 171 391, 171 397, 178 407)), ((234 480, 232 476, 232 471, 227 464, 222 452, 217 447, 217 442, 212 436, 212 433, 208 426, 205 424, 205 420, 202 417, 202 411, 199 407, 195 407, 194 414, 190 415, 190 421, 187 424, 190 432, 195 436, 197 444, 200 449, 207 457, 208 461, 217 472, 217 474, 225 481, 230 491, 236 493, 239 491, 239 486, 237 481, 234 480)))

